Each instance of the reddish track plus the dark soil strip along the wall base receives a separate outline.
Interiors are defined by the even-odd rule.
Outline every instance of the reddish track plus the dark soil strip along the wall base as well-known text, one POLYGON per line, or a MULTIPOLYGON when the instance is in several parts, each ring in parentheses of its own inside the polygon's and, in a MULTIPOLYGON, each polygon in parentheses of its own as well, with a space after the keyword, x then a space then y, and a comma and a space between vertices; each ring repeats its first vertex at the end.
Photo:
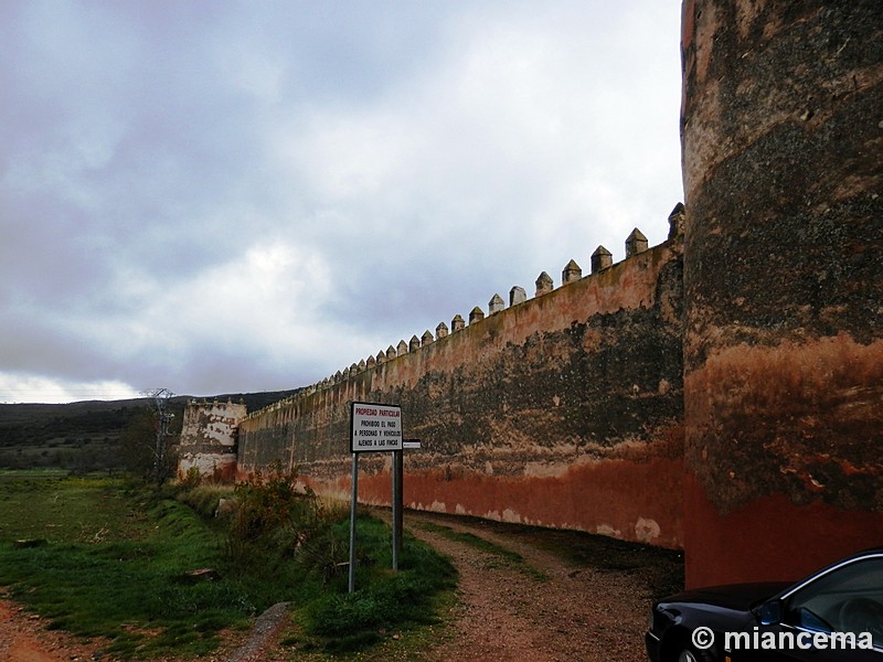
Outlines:
POLYGON ((678 555, 663 549, 428 513, 408 513, 407 521, 460 573, 451 638, 425 660, 645 660, 649 602, 682 581, 678 555), (507 563, 421 522, 471 533, 523 562, 507 563))

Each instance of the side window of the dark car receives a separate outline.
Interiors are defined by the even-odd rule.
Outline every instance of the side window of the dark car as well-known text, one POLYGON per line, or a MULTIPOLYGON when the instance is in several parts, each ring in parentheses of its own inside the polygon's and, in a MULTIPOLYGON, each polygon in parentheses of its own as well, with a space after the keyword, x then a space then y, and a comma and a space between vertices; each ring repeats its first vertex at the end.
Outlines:
POLYGON ((843 565, 787 600, 789 624, 813 631, 870 632, 883 648, 883 557, 843 565))

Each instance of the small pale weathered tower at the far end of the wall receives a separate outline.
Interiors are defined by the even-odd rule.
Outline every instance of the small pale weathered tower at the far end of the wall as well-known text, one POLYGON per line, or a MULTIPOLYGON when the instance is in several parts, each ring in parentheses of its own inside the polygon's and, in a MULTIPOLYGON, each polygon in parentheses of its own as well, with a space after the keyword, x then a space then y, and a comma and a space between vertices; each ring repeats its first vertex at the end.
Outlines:
POLYGON ((231 479, 236 473, 236 438, 244 404, 190 402, 184 407, 178 473, 196 468, 204 476, 231 479))

